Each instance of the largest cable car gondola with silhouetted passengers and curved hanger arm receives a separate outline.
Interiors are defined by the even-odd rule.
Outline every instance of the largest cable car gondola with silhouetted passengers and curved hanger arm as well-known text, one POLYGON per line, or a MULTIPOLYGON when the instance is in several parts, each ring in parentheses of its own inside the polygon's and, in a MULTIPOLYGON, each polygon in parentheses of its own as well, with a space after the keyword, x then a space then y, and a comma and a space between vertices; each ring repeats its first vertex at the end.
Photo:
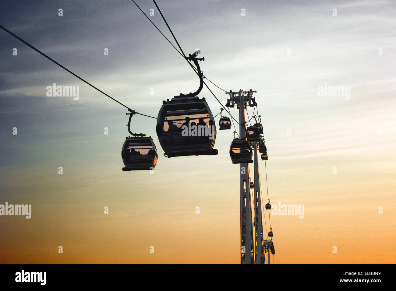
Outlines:
MULTIPOLYGON (((199 72, 197 59, 199 51, 190 55, 199 72)), ((198 95, 203 87, 202 73, 200 87, 194 93, 180 94, 170 101, 163 101, 158 113, 156 132, 167 158, 192 155, 215 155, 216 127, 212 112, 205 98, 198 95)))

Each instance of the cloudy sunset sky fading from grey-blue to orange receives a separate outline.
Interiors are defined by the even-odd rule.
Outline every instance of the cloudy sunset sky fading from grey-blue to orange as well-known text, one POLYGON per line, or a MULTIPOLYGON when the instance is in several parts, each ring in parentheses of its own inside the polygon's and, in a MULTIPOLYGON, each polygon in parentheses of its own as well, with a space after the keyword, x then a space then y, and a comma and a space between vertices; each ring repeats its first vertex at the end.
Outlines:
MULTIPOLYGON (((257 91, 271 204, 305 205, 303 219, 271 215, 275 263, 396 263, 396 3, 157 2, 183 51, 201 50, 205 76, 227 91, 257 91), (350 86, 350 99, 320 97, 325 84, 350 86)), ((137 3, 171 39, 154 4, 137 3)), ((128 0, 1 2, 0 24, 143 114, 199 85, 128 0)), ((217 156, 168 159, 156 120, 133 116, 158 162, 153 175, 123 172, 124 107, 3 30, 0 54, 0 204, 32 205, 31 219, 0 216, 0 262, 240 262, 233 127, 217 131, 217 156), (79 99, 47 97, 53 83, 80 86, 79 99)), ((208 89, 199 96, 219 112, 208 89)))

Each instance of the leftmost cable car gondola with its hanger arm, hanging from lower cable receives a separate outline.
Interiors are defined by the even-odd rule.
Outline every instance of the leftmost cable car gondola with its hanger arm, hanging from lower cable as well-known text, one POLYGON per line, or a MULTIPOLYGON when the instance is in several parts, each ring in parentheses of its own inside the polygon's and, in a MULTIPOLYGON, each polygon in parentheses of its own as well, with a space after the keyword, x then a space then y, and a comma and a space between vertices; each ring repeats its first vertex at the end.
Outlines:
MULTIPOLYGON (((131 111, 131 110, 129 110, 131 111)), ((121 157, 125 167, 123 171, 152 170, 157 164, 157 149, 151 137, 142 133, 133 133, 130 130, 131 118, 135 111, 129 114, 128 131, 133 137, 126 137, 122 146, 121 157)))

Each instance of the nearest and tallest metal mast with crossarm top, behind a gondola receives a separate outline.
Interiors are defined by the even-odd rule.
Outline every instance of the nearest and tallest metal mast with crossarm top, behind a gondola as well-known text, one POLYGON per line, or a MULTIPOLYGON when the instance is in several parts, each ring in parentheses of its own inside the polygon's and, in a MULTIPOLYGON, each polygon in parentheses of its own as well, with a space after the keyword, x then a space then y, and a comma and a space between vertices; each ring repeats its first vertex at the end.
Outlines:
MULTIPOLYGON (((250 107, 257 105, 255 99, 252 98, 253 92, 256 91, 242 91, 233 92, 229 91, 226 94, 230 95, 227 100, 227 107, 234 107, 237 105, 239 109, 239 137, 240 139, 246 138, 245 127, 245 107, 248 102, 250 107)), ((240 165, 240 227, 241 227, 241 264, 254 264, 253 253, 253 225, 251 219, 251 201, 249 192, 249 170, 247 163, 240 165), (249 193, 248 193, 249 192, 249 193)))

